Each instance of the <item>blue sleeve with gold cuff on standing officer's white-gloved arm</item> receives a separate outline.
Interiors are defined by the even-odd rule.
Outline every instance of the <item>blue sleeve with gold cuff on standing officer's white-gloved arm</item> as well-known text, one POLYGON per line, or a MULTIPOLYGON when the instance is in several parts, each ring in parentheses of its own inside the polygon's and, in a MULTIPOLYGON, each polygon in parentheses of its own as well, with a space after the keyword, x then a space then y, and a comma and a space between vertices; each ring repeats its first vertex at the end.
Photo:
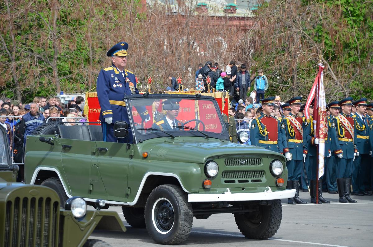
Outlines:
POLYGON ((113 117, 112 107, 110 106, 110 103, 109 103, 109 91, 110 91, 109 78, 104 72, 104 70, 101 69, 100 74, 98 74, 98 78, 97 78, 97 97, 98 97, 98 102, 100 103, 101 114, 103 118, 113 117))

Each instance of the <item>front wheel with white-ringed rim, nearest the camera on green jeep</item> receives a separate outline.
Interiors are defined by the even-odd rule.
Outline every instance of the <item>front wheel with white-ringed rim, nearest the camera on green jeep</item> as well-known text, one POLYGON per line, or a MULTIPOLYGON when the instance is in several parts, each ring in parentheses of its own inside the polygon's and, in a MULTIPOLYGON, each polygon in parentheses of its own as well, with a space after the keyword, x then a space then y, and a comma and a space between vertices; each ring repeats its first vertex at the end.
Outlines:
POLYGON ((192 206, 178 186, 160 185, 151 191, 145 204, 145 224, 158 244, 179 244, 185 241, 193 225, 192 206))

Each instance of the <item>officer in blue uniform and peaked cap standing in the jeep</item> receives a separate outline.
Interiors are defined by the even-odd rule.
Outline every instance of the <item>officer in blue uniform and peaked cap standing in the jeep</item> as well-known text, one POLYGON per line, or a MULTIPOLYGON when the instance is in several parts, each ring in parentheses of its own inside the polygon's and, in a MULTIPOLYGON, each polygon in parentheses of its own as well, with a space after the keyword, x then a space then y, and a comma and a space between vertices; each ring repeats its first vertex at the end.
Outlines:
MULTIPOLYGON (((106 56, 111 57, 112 65, 101 69, 97 78, 97 97, 100 103, 100 121, 103 129, 103 140, 119 143, 132 143, 132 131, 129 129, 126 138, 114 136, 114 123, 126 121, 129 124, 128 113, 123 97, 125 95, 139 94, 136 87, 134 73, 125 69, 127 65, 126 42, 120 42, 107 51, 106 56)), ((150 116, 145 107, 136 108, 142 120, 150 116)))

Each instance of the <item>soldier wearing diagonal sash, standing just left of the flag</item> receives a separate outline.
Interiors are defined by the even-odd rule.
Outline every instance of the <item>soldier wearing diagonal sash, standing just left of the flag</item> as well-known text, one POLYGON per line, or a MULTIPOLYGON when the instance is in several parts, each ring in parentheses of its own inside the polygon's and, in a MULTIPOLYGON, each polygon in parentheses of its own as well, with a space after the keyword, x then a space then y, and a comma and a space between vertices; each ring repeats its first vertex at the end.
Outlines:
POLYGON ((307 204, 299 198, 299 178, 308 152, 303 145, 303 119, 298 117, 301 100, 302 97, 298 96, 286 102, 290 105, 290 114, 283 121, 289 152, 292 154, 292 159, 286 162, 288 168, 288 185, 286 188, 296 191, 295 196, 288 199, 289 204, 307 204))

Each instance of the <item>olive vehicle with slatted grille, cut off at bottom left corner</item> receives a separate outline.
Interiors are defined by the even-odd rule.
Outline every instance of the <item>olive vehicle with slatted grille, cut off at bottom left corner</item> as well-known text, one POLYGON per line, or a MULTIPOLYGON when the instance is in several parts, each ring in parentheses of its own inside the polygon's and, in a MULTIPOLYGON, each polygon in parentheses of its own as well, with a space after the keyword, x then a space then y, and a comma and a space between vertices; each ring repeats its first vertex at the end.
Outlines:
POLYGON ((18 166, 10 162, 5 129, 0 127, 0 247, 84 246, 109 247, 101 240, 88 239, 94 229, 125 231, 116 212, 87 210, 81 197, 63 202, 56 191, 40 185, 16 182, 18 166))

